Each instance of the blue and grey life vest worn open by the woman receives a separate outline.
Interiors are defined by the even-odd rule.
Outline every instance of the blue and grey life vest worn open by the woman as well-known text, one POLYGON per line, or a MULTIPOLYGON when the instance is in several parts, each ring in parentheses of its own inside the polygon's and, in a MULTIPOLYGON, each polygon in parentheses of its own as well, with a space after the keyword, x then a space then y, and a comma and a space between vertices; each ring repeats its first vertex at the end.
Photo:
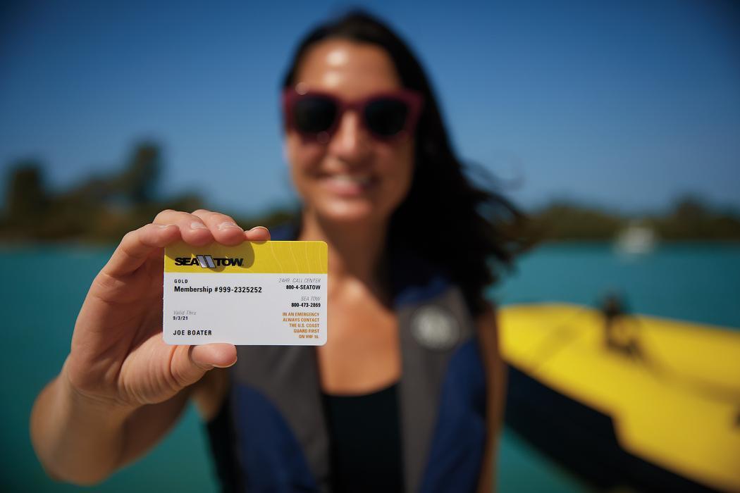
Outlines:
MULTIPOLYGON (((289 227, 272 238, 296 234, 289 227)), ((472 492, 486 438, 485 370, 475 321, 460 288, 439 271, 411 255, 392 262, 406 492, 472 492)), ((244 489, 330 492, 331 437, 315 348, 240 346, 230 375, 231 446, 244 489)))

